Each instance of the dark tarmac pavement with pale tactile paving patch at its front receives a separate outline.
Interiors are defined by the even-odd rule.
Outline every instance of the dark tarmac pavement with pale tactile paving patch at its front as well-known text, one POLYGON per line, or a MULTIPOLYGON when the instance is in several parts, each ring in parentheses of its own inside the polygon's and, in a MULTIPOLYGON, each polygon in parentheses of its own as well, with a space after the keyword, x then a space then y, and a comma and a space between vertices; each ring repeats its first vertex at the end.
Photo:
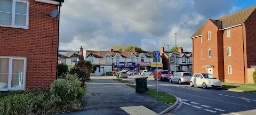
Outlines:
POLYGON ((92 76, 85 96, 82 111, 62 114, 158 114, 173 108, 147 94, 135 93, 134 88, 111 76, 92 76))

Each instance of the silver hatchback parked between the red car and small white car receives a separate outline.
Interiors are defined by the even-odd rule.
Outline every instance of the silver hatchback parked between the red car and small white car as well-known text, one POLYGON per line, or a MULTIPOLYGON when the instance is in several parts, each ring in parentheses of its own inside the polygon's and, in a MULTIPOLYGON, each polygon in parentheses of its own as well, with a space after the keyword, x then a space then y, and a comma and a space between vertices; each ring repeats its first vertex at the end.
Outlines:
POLYGON ((192 74, 190 72, 177 72, 172 75, 169 79, 170 83, 178 82, 179 84, 182 83, 189 83, 190 79, 192 78, 192 74))

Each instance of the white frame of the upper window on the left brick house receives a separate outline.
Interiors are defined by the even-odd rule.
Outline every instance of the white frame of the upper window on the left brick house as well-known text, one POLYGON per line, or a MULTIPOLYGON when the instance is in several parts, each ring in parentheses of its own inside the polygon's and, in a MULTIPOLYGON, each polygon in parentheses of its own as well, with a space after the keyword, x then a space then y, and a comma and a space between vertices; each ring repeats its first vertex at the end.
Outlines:
POLYGON ((12 0, 12 22, 11 22, 11 26, 9 25, 3 25, 0 24, 0 26, 2 27, 14 27, 14 28, 25 28, 28 29, 28 18, 29 18, 29 1, 23 1, 23 0, 12 0), (17 26, 15 25, 15 5, 16 2, 22 2, 22 3, 26 3, 27 4, 27 11, 26 11, 26 26, 17 26))

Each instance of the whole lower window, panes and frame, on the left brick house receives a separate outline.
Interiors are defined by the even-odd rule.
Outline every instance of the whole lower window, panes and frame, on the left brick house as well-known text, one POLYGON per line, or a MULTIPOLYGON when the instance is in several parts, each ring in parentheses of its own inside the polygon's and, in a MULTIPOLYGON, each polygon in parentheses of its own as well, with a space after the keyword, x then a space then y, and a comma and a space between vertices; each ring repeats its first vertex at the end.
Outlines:
POLYGON ((0 91, 25 90, 26 57, 0 57, 0 91))

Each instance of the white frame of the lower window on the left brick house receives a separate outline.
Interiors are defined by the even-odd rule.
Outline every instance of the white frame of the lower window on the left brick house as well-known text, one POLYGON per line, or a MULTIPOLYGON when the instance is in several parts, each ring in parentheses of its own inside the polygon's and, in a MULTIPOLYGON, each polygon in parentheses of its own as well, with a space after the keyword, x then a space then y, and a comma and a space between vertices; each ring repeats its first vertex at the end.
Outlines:
POLYGON ((9 73, 8 73, 8 85, 7 88, 5 89, 0 89, 0 91, 20 91, 20 90, 25 90, 26 86, 26 70, 27 70, 27 58, 26 57, 5 57, 5 56, 0 56, 0 58, 9 58, 9 73), (24 60, 24 65, 23 65, 23 78, 22 78, 22 87, 12 87, 12 62, 13 60, 24 60))

